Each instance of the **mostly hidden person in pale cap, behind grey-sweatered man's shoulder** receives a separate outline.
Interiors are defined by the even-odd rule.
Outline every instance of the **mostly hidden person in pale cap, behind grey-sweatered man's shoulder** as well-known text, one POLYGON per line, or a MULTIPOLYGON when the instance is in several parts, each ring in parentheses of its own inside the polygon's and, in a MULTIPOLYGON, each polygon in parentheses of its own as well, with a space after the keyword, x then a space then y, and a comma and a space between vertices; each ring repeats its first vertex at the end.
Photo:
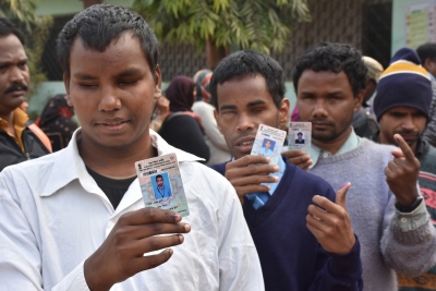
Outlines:
POLYGON ((363 63, 367 69, 366 73, 366 87, 363 94, 362 107, 353 114, 352 126, 355 134, 360 137, 370 137, 378 131, 378 123, 370 111, 367 101, 373 97, 378 78, 383 72, 383 65, 370 57, 362 57, 363 63))

